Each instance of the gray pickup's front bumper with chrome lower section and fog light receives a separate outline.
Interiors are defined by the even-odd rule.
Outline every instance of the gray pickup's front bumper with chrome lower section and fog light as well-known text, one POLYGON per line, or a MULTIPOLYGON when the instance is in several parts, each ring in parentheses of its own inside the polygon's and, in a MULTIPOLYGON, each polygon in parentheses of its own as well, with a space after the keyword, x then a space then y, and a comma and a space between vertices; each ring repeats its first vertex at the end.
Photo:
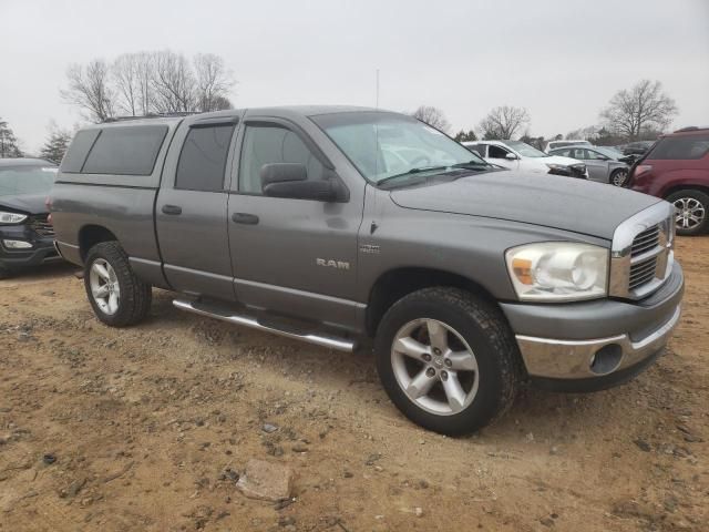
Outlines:
POLYGON ((675 263, 665 286, 639 303, 505 304, 503 310, 533 381, 590 391, 623 382, 649 366, 679 323, 682 294, 684 276, 675 263))

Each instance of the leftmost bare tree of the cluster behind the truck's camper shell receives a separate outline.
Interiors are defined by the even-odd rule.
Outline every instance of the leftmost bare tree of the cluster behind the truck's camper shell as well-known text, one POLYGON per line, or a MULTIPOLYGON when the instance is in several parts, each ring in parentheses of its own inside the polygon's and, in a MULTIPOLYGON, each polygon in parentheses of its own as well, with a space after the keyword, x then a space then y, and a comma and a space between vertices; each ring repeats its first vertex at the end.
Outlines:
POLYGON ((65 102, 78 105, 92 122, 103 122, 113 116, 114 91, 105 61, 95 59, 85 68, 73 64, 66 76, 69 86, 60 92, 65 102))

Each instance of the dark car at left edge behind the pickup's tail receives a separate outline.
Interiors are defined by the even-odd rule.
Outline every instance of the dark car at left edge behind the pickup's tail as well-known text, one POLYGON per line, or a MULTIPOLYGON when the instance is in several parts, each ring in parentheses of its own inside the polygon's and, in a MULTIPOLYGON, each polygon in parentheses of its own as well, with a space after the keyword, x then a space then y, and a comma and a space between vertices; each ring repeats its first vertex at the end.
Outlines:
POLYGON ((60 258, 45 205, 56 170, 41 158, 0 158, 0 279, 60 258))

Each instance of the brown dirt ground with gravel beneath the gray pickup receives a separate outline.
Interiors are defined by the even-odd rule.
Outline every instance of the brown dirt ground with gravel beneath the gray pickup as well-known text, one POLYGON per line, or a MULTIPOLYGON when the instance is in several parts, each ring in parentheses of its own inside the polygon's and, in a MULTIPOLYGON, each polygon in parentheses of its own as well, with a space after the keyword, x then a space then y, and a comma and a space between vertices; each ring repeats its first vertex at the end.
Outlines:
POLYGON ((370 352, 160 290, 145 324, 111 329, 68 266, 0 282, 0 530, 707 531, 709 238, 678 256, 685 311, 657 365, 594 395, 526 389, 460 439, 408 422, 370 352), (237 491, 251 458, 295 470, 290 504, 237 491))

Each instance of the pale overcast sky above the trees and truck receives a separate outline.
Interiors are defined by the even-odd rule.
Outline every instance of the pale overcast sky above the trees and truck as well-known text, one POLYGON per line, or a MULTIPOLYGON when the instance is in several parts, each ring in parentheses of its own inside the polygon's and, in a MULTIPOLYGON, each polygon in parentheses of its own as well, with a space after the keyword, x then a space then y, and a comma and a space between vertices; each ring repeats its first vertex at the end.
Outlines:
POLYGON ((455 130, 496 105, 551 136, 598 123, 613 94, 659 80, 674 126, 709 125, 709 0, 0 0, 0 116, 35 151, 70 127, 66 68, 123 52, 222 55, 237 108, 442 109, 455 130))

